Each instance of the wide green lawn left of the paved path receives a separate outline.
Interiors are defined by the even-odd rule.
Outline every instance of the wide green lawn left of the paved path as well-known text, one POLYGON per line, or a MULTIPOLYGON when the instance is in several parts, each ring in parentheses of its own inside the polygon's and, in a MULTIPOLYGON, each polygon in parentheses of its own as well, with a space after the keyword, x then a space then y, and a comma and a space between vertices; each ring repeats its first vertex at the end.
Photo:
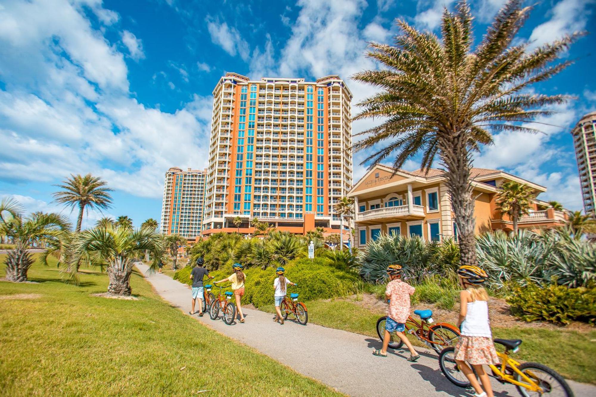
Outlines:
POLYGON ((73 286, 36 264, 29 278, 0 281, 2 395, 339 395, 170 307, 138 273, 139 300, 91 296, 107 290, 97 272, 73 286))

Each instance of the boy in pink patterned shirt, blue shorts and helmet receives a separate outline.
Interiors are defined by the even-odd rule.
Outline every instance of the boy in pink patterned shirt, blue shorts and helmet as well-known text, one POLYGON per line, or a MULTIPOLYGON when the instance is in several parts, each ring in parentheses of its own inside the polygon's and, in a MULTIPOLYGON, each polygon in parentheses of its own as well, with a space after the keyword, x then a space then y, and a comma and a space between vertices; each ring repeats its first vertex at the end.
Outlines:
POLYGON ((387 346, 391 339, 391 333, 395 331, 399 339, 408 346, 410 356, 408 361, 416 361, 420 355, 414 350, 414 346, 410 343, 408 337, 403 331, 406 329, 406 321, 408 321, 410 311, 410 295, 414 293, 414 287, 410 286, 401 280, 402 266, 389 265, 387 268, 389 275, 389 284, 385 290, 385 297, 389 300, 389 313, 385 322, 385 334, 383 336, 383 349, 376 349, 373 351, 375 356, 387 357, 387 346))

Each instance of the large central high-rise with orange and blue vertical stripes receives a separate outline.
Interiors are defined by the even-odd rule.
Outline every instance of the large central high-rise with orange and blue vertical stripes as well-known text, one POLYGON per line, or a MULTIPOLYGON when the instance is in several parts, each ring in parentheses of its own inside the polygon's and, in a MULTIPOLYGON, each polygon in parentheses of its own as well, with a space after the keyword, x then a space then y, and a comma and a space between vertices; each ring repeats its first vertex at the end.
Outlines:
POLYGON ((333 205, 352 187, 352 93, 343 80, 227 73, 213 98, 203 235, 251 233, 253 218, 297 234, 339 232, 333 205))

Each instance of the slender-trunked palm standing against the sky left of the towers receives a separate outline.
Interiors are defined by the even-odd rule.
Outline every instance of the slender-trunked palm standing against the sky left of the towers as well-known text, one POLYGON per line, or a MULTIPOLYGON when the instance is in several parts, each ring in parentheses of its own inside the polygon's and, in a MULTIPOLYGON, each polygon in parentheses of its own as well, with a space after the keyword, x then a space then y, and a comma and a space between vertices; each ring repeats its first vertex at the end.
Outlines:
POLYGON ((75 209, 76 206, 79 207, 76 232, 80 231, 85 207, 97 209, 100 212, 102 209, 110 208, 112 202, 110 192, 112 189, 105 187, 106 184, 98 176, 92 176, 91 173, 88 173, 85 176, 70 174, 70 178, 63 181, 61 185, 54 185, 63 189, 53 194, 57 203, 66 204, 71 209, 75 209))

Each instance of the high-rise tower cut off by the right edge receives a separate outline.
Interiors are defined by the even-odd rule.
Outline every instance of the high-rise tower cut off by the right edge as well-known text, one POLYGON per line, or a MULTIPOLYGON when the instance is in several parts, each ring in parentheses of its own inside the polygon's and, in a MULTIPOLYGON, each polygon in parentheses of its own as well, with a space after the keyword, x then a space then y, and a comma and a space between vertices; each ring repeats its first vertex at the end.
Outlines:
POLYGON ((596 111, 583 116, 571 134, 578 159, 583 210, 596 215, 596 111))

